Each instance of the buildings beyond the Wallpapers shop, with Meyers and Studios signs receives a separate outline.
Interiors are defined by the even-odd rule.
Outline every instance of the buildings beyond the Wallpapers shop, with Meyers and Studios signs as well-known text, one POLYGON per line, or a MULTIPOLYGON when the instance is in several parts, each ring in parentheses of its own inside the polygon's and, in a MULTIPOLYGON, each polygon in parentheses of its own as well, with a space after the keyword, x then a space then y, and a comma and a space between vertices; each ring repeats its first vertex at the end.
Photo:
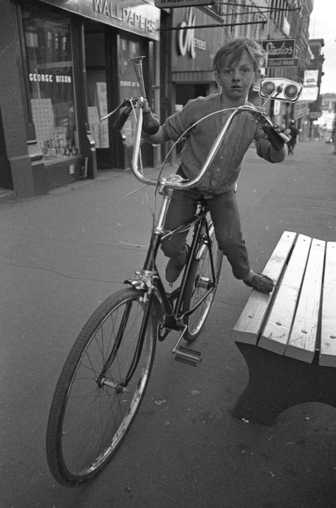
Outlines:
MULTIPOLYGON (((213 81, 212 59, 228 39, 249 37, 263 45, 277 41, 292 51, 290 61, 279 59, 266 63, 262 77, 284 77, 303 83, 304 71, 310 68, 309 19, 313 0, 260 0, 221 2, 211 6, 162 9, 161 52, 170 48, 170 57, 161 66, 161 118, 165 119, 189 99, 218 91, 213 81), (211 26, 210 26, 211 25, 211 26), (220 26, 221 25, 221 26, 220 26), (284 41, 282 43, 282 41, 284 41), (288 47, 286 47, 288 45, 288 47)), ((280 45, 281 45, 280 44, 280 45)), ((272 57, 272 44, 267 47, 272 57), (271 49, 269 49, 271 48, 271 49)), ((249 101, 259 106, 259 83, 249 92, 249 101)), ((309 136, 310 101, 296 104, 270 101, 266 111, 273 121, 289 125, 291 119, 301 139, 309 136)), ((166 154, 163 148, 163 156, 166 154)))

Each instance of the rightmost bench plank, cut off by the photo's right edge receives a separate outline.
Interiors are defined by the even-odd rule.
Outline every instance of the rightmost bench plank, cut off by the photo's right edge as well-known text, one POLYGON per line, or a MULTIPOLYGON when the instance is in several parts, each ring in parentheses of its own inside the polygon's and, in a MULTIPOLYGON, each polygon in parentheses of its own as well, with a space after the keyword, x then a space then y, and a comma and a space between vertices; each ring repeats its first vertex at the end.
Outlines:
POLYGON ((326 248, 319 364, 336 367, 336 242, 326 248))

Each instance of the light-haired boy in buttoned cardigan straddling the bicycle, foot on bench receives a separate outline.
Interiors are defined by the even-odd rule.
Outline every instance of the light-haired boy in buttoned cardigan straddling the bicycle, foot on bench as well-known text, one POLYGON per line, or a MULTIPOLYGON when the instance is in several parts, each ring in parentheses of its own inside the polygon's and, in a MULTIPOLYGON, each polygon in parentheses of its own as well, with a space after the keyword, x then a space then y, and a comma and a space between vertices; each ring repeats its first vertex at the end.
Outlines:
MULTIPOLYGON (((247 38, 228 41, 216 53, 213 60, 214 77, 221 93, 191 100, 181 110, 167 118, 157 134, 143 135, 153 144, 176 141, 191 125, 209 113, 224 108, 236 108, 246 102, 252 82, 260 76, 260 63, 264 51, 259 44, 247 38)), ((181 153, 181 165, 177 174, 194 178, 205 161, 213 142, 230 112, 212 115, 198 123, 186 136, 181 153)), ((274 124, 278 132, 285 132, 285 125, 274 124)), ((235 278, 262 293, 270 293, 273 281, 266 275, 251 269, 248 251, 240 230, 240 218, 235 198, 235 187, 243 158, 253 140, 257 153, 270 163, 282 162, 287 154, 286 145, 281 150, 272 148, 260 125, 251 120, 251 114, 240 113, 233 120, 224 142, 217 152, 203 180, 187 191, 175 190, 168 208, 165 229, 172 230, 188 221, 196 212, 197 201, 204 198, 208 204, 219 248, 227 257, 235 278)), ((162 250, 170 258, 166 267, 166 279, 173 283, 187 262, 188 232, 178 233, 163 241, 162 250)))

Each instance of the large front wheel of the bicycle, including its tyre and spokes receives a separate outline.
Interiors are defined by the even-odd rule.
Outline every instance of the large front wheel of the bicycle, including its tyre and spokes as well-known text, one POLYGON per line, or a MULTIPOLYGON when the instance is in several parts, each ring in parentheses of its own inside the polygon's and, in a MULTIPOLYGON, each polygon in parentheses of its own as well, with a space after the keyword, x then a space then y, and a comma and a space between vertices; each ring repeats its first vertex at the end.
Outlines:
POLYGON ((74 487, 97 474, 130 429, 155 355, 149 313, 143 343, 143 292, 124 289, 103 302, 79 334, 50 408, 46 451, 55 480, 74 487), (128 378, 128 379, 127 379, 128 378))

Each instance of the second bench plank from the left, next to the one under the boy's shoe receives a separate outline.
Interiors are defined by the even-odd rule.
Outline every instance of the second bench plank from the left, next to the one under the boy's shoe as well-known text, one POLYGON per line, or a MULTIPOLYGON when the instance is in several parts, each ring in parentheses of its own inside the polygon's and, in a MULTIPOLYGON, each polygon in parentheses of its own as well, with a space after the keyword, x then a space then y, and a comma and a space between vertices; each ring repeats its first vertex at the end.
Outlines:
POLYGON ((292 326, 312 239, 299 235, 258 346, 283 355, 292 326))

